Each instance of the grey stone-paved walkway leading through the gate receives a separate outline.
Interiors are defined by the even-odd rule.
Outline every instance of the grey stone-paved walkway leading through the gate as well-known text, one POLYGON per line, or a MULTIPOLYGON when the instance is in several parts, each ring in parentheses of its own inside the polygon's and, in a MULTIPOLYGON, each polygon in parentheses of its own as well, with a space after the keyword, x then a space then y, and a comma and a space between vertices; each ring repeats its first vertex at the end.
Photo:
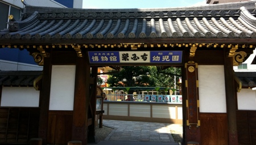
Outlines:
POLYGON ((167 123, 103 120, 103 125, 114 130, 97 145, 179 145, 174 142, 167 123))

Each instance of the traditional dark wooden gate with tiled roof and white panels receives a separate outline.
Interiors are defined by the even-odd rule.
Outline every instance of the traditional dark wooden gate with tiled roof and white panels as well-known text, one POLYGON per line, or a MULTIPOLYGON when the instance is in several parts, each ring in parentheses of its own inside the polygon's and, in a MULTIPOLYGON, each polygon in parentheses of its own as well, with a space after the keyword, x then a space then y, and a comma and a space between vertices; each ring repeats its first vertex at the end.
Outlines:
POLYGON ((234 145, 239 141, 233 65, 256 46, 254 15, 252 2, 154 10, 27 5, 21 21, 10 16, 0 47, 27 49, 43 66, 38 126, 43 144, 94 141, 98 66, 160 65, 182 68, 183 144, 234 145), (89 55, 177 51, 181 62, 92 63, 89 55))

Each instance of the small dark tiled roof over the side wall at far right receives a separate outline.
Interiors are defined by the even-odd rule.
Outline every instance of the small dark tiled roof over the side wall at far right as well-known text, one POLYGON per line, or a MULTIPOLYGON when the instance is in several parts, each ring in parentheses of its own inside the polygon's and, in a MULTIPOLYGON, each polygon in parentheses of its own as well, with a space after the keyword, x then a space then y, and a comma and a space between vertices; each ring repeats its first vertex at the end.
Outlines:
POLYGON ((256 87, 256 72, 235 72, 242 83, 242 88, 256 87))

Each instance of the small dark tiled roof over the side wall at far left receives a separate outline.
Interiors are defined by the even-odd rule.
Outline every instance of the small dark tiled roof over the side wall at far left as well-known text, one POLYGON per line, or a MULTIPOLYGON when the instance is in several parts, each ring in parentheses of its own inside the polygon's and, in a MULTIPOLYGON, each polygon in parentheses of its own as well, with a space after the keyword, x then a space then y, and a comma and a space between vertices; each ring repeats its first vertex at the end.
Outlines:
POLYGON ((0 71, 0 85, 33 87, 34 80, 41 74, 42 71, 0 71))

